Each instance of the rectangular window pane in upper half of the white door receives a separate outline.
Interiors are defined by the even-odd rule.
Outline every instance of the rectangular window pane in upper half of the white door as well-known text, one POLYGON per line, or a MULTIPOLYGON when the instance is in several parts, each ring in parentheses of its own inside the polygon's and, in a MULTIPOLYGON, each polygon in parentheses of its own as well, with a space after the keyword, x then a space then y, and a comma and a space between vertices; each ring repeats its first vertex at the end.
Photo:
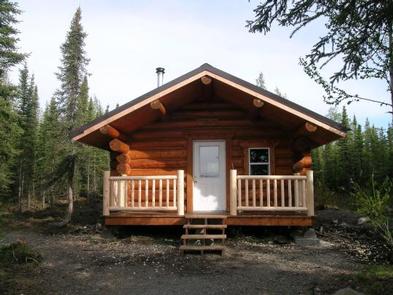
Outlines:
POLYGON ((217 177, 220 174, 218 146, 199 147, 199 170, 201 177, 217 177))

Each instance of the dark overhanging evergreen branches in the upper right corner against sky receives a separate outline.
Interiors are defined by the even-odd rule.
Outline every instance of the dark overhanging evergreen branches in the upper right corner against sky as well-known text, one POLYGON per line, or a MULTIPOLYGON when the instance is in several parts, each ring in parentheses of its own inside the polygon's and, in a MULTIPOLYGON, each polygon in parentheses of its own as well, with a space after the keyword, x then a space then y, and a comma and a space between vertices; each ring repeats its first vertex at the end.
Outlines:
MULTIPOLYGON (((375 0, 272 0, 261 1, 250 32, 268 33, 275 25, 292 29, 291 37, 306 26, 325 25, 310 52, 300 60, 307 75, 326 92, 325 100, 337 104, 366 100, 391 108, 393 120, 393 1, 375 0), (321 70, 333 65, 328 81, 321 70), (378 79, 386 83, 390 101, 362 97, 341 88, 340 82, 378 79)), ((392 121, 393 122, 393 121, 392 121)))

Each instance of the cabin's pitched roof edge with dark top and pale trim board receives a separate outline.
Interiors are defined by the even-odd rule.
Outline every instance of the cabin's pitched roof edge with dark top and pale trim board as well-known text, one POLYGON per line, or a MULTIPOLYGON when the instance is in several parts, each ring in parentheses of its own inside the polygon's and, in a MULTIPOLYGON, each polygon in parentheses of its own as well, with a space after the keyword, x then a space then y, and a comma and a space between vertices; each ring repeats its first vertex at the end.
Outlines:
POLYGON ((306 121, 310 121, 313 124, 321 126, 322 128, 335 133, 338 137, 344 137, 346 129, 343 128, 339 123, 324 117, 314 111, 311 111, 299 104, 296 104, 288 99, 285 99, 277 94, 262 89, 254 84, 251 84, 245 80, 235 77, 227 72, 217 69, 210 64, 203 64, 200 67, 150 91, 142 96, 129 101, 128 103, 104 114, 103 116, 93 120, 92 122, 81 126, 80 128, 74 129, 71 132, 71 138, 73 140, 80 140, 88 134, 97 131, 100 127, 111 124, 111 122, 119 119, 122 116, 129 114, 137 110, 138 108, 150 103, 151 101, 158 99, 171 91, 179 89, 193 81, 208 75, 213 79, 219 80, 224 84, 228 84, 232 87, 237 88, 240 91, 246 92, 254 97, 257 97, 269 104, 274 105, 284 111, 290 112, 306 121))

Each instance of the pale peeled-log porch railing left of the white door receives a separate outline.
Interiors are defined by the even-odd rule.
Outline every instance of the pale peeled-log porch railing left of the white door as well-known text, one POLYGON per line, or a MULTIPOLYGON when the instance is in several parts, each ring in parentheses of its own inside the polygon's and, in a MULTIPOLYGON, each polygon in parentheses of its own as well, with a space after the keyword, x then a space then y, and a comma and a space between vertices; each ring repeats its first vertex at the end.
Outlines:
POLYGON ((103 215, 119 210, 177 211, 184 215, 184 171, 159 176, 110 176, 105 171, 103 215))

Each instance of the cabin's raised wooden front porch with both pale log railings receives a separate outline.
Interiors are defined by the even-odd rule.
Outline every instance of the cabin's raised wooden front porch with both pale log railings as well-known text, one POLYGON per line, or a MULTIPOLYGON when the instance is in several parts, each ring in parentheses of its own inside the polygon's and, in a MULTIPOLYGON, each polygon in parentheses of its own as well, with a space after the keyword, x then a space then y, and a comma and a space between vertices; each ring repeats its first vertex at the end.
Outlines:
MULTIPOLYGON (((110 176, 104 173, 103 215, 106 225, 184 225, 187 184, 176 175, 110 176)), ((313 171, 307 175, 237 175, 229 173, 229 226, 311 226, 314 216, 313 171)))

